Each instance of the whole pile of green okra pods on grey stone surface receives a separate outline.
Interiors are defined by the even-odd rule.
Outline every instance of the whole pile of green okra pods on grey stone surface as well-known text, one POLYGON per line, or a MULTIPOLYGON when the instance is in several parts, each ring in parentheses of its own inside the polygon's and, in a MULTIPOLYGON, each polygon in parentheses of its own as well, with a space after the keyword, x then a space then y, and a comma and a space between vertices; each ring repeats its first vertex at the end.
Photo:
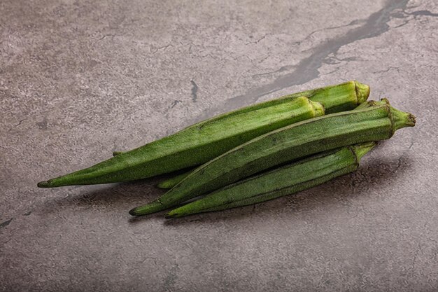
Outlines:
POLYGON ((358 81, 286 95, 115 152, 108 160, 41 181, 38 187, 174 174, 157 185, 167 193, 129 211, 141 216, 171 209, 167 218, 272 200, 354 172, 377 141, 414 127, 411 113, 390 106, 388 99, 368 97, 369 86, 358 81))

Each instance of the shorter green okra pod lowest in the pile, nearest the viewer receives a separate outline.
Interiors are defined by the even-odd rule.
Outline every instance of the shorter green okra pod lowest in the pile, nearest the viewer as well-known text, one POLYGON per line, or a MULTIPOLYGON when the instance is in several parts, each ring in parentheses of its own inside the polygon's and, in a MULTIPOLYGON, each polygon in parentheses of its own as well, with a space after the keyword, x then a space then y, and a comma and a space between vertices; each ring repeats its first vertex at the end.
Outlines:
POLYGON ((250 177, 185 204, 167 213, 167 218, 219 211, 272 200, 318 186, 337 176, 354 172, 360 158, 376 143, 367 142, 325 151, 290 165, 250 177))

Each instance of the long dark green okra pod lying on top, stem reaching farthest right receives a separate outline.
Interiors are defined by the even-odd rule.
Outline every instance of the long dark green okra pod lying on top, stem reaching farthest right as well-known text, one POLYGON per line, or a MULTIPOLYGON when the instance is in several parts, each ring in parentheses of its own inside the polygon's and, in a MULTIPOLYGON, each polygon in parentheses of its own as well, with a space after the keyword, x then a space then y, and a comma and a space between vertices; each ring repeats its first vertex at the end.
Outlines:
POLYGON ((414 125, 414 116, 386 102, 371 102, 353 111, 304 120, 206 162, 157 200, 136 207, 129 214, 139 216, 168 209, 264 169, 342 146, 389 139, 395 130, 414 125))

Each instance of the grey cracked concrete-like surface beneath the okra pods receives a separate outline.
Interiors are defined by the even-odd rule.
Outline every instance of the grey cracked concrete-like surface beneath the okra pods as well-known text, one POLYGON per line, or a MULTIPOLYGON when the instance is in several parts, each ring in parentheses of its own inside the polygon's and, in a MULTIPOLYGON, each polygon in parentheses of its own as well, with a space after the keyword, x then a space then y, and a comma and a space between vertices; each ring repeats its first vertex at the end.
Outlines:
POLYGON ((438 291, 438 5, 0 1, 1 291, 438 291), (246 104, 357 79, 418 116, 358 172, 165 221, 157 180, 38 189, 246 104))

